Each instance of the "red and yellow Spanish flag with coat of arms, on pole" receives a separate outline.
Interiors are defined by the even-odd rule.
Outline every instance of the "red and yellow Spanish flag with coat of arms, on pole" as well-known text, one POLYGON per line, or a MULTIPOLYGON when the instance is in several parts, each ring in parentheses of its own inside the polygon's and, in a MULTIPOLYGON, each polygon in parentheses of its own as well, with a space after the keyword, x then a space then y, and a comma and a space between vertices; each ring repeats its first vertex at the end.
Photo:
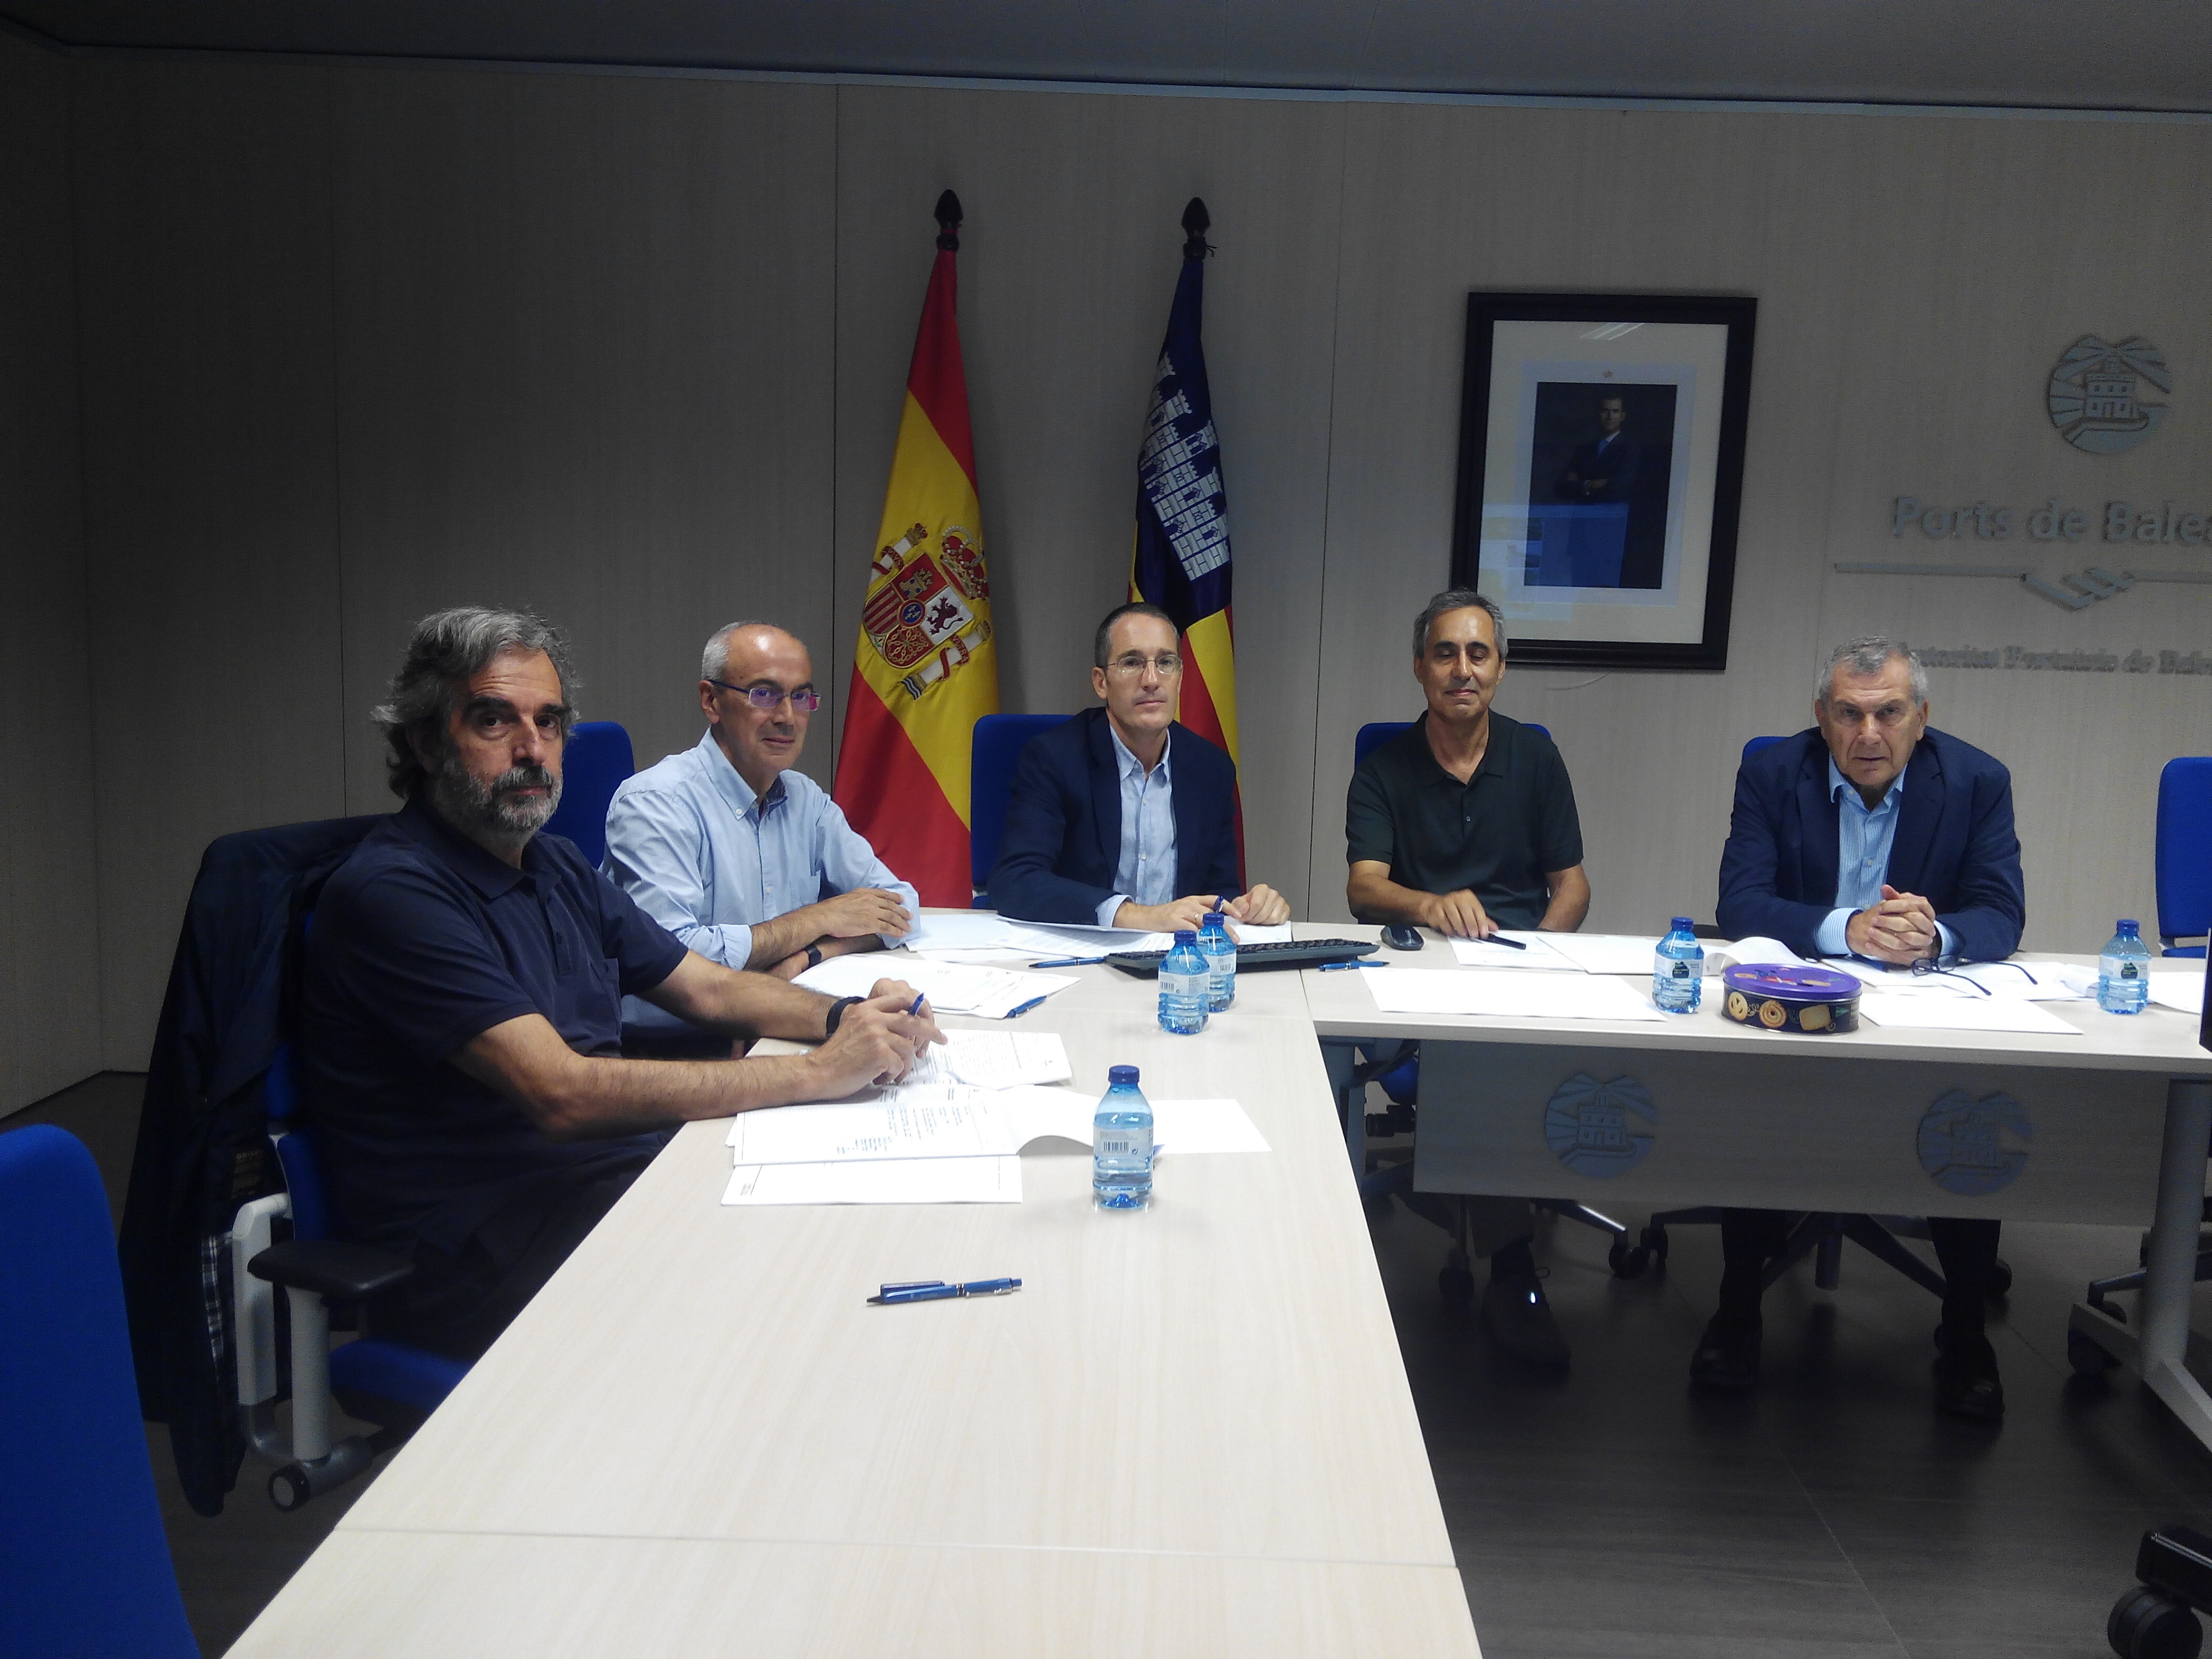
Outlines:
POLYGON ((969 745, 975 721, 998 712, 998 655, 960 369, 951 190, 938 197, 938 226, 832 794, 925 905, 967 909, 969 745))

